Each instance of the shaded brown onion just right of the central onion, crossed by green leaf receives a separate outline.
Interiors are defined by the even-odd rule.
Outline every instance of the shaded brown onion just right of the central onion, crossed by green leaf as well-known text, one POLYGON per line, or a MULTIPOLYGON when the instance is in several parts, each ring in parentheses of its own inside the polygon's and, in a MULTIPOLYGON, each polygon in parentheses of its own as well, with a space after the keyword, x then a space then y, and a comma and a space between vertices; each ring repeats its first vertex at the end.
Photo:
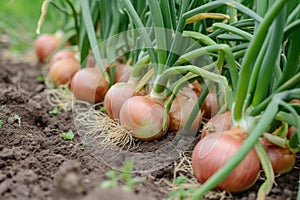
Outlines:
MULTIPOLYGON (((167 99, 168 101, 168 99, 167 99)), ((170 115, 170 126, 169 131, 178 131, 182 129, 197 102, 196 93, 190 88, 184 88, 183 94, 179 93, 174 101, 169 111, 170 115)), ((195 118, 189 132, 195 133, 202 122, 202 114, 199 111, 197 117, 195 118)))

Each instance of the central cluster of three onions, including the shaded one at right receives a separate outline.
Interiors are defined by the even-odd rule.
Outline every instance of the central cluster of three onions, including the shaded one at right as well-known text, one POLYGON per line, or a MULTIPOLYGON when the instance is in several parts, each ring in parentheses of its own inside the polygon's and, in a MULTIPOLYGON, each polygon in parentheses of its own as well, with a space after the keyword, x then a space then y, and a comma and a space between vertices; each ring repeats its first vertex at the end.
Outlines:
MULTIPOLYGON (((184 128, 198 99, 192 85, 180 90, 165 116, 169 98, 151 96, 151 82, 146 84, 148 89, 144 87, 139 91, 137 84, 136 78, 130 77, 127 82, 119 82, 110 87, 104 99, 109 117, 118 120, 140 141, 161 139, 167 131, 176 132, 184 128)), ((190 131, 199 130, 201 122, 202 114, 199 111, 190 131)))

